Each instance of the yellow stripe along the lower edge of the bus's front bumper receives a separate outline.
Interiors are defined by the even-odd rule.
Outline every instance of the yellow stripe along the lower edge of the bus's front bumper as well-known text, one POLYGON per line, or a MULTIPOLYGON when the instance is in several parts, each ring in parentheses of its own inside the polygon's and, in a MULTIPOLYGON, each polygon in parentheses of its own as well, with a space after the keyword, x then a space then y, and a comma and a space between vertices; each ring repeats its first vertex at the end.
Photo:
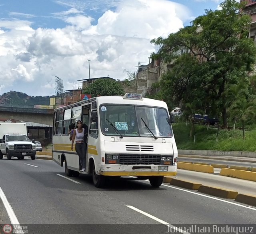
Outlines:
POLYGON ((103 176, 176 176, 177 172, 102 172, 103 176))

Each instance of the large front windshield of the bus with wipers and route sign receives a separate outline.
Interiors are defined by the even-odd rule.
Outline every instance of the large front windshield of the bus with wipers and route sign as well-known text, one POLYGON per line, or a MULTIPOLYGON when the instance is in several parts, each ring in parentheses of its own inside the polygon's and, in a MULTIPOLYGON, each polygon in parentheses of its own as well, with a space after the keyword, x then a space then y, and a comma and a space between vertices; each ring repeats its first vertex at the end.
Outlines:
POLYGON ((113 104, 100 107, 101 129, 106 136, 172 137, 168 118, 164 108, 113 104))

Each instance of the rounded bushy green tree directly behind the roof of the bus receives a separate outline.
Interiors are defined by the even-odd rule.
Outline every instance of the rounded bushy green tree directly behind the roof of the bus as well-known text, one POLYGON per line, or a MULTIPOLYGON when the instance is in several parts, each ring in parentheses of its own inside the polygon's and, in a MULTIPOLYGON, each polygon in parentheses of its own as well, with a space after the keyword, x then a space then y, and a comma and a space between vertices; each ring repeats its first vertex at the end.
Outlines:
POLYGON ((84 94, 92 94, 92 97, 100 96, 114 96, 124 94, 122 85, 112 79, 98 79, 95 80, 89 87, 85 88, 84 94))

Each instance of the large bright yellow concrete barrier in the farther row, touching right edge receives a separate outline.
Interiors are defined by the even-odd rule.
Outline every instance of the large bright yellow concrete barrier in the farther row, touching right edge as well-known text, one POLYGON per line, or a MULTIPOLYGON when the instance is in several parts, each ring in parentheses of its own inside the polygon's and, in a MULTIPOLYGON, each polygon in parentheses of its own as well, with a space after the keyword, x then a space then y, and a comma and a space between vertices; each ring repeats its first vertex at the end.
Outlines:
POLYGON ((220 176, 229 176, 243 180, 256 181, 256 172, 222 168, 220 176))

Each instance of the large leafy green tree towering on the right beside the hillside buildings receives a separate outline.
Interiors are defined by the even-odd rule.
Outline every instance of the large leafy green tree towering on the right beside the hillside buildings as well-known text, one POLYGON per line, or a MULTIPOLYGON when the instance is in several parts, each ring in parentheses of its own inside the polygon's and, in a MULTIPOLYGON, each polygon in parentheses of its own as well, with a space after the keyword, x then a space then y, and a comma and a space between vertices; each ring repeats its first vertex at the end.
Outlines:
POLYGON ((248 38, 251 19, 239 11, 243 7, 236 0, 225 0, 221 10, 206 10, 192 26, 152 40, 160 46, 152 57, 173 63, 172 70, 162 77, 163 92, 176 105, 184 107, 197 100, 193 105, 196 110, 220 112, 224 128, 228 125, 227 109, 234 101, 226 89, 244 80, 256 60, 256 47, 248 38))

